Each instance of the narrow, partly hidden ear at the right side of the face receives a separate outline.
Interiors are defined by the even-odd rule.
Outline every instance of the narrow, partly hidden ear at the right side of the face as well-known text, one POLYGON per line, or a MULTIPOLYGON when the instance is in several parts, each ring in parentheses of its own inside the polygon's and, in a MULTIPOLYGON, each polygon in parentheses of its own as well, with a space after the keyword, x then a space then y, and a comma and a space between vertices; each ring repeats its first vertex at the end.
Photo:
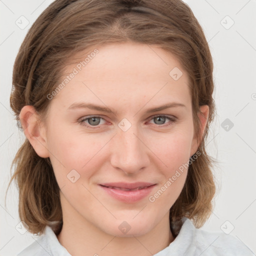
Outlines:
MULTIPOLYGON (((201 127, 200 127, 200 141, 199 141, 199 143, 200 143, 201 140, 202 140, 203 134, 204 134, 204 129, 205 129, 207 120, 208 120, 209 106, 208 105, 200 106, 197 115, 198 115, 198 118, 199 118, 200 124, 201 124, 201 127)), ((190 157, 196 152, 198 146, 199 146, 199 144, 197 143, 196 138, 195 138, 195 134, 194 134, 194 137, 193 137, 193 140, 192 140, 192 145, 191 145, 190 157)))

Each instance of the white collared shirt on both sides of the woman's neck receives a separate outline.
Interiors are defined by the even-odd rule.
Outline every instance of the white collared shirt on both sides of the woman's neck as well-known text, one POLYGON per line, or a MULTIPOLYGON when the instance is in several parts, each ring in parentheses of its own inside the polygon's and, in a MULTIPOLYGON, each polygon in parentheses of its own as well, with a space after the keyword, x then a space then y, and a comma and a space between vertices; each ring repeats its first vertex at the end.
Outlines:
MULTIPOLYGON (((183 217, 176 238, 153 256, 255 256, 239 239, 223 232, 208 232, 195 228, 190 219, 183 217)), ((71 256, 63 247, 51 227, 23 249, 17 256, 71 256)), ((135 255, 136 256, 136 255, 135 255)))

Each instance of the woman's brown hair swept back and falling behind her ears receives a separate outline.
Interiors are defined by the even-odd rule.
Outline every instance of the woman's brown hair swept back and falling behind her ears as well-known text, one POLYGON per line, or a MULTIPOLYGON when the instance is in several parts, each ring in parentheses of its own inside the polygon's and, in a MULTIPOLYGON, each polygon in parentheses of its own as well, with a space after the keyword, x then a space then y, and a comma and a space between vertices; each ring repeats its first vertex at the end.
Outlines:
MULTIPOLYGON (((95 45, 124 42, 161 47, 177 58, 189 77, 193 127, 200 156, 189 164, 182 191, 170 208, 170 229, 176 236, 184 216, 197 228, 205 223, 215 194, 211 171, 215 160, 205 150, 209 125, 215 115, 213 62, 203 29, 186 3, 181 0, 55 0, 32 24, 19 48, 13 66, 10 106, 20 129, 19 113, 25 105, 32 105, 43 120, 50 103, 46 95, 61 80, 67 59, 95 45), (209 107, 203 134, 197 115, 201 105, 209 107)), ((38 156, 25 138, 11 163, 13 166, 8 188, 15 179, 20 219, 28 225, 29 232, 39 235, 46 225, 60 223, 54 229, 58 234, 63 223, 60 189, 49 157, 38 156)))

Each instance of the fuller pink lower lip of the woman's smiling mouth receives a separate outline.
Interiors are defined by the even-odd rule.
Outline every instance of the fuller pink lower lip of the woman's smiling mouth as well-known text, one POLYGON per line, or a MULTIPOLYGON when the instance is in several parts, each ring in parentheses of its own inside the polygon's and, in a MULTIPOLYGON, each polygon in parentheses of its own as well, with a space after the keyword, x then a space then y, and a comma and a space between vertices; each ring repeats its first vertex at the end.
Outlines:
POLYGON ((151 185, 151 186, 147 186, 146 188, 133 190, 133 191, 114 189, 114 188, 109 188, 109 187, 102 186, 102 185, 99 185, 99 186, 102 187, 112 197, 114 197, 120 201, 137 202, 137 201, 141 200, 142 198, 144 198, 146 195, 148 195, 151 192, 151 190, 153 189, 153 187, 155 186, 155 184, 151 185))

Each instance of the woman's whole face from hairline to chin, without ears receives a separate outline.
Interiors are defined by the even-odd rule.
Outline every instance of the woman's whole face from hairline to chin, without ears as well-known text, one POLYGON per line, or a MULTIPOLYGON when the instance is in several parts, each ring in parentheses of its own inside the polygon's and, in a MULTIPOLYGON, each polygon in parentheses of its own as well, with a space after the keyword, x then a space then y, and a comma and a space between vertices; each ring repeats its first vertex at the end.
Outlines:
POLYGON ((185 182, 184 164, 197 149, 188 76, 157 46, 97 49, 86 66, 66 67, 65 75, 75 75, 50 99, 45 147, 63 214, 112 235, 142 235, 168 218, 185 182), (148 183, 129 187, 135 182, 148 183))

